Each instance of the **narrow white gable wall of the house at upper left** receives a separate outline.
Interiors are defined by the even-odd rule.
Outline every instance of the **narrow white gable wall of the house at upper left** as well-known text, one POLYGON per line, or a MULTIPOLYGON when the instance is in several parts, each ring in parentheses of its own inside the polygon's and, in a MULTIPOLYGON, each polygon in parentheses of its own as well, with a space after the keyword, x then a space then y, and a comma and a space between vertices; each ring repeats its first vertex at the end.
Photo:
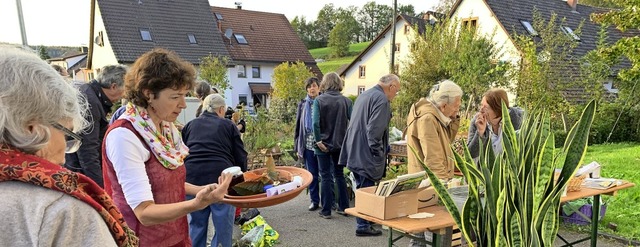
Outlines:
POLYGON ((94 31, 93 38, 90 40, 93 44, 93 53, 92 53, 92 70, 102 68, 107 65, 114 65, 118 63, 116 59, 115 53, 113 53, 113 49, 111 48, 111 42, 109 42, 109 36, 107 35, 107 31, 104 27, 104 22, 102 21, 102 14, 100 13, 99 4, 96 4, 96 16, 94 20, 94 31), (102 43, 104 46, 98 46, 94 43, 95 37, 98 37, 98 34, 102 32, 102 43))

